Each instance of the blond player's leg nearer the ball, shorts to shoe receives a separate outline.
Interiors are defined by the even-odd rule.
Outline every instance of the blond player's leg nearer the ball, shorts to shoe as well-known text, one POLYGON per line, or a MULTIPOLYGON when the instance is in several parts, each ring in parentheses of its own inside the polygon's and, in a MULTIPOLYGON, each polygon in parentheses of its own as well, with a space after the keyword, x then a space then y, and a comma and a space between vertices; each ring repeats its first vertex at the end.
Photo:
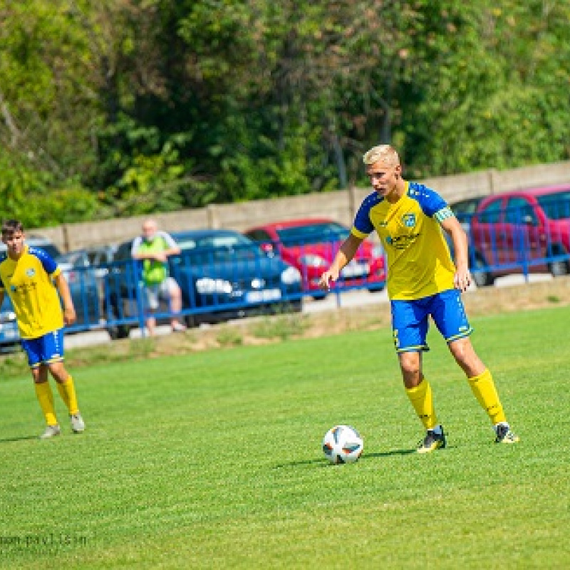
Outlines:
POLYGON ((418 452, 426 453, 445 447, 445 433, 437 421, 432 388, 422 371, 422 353, 429 350, 427 313, 423 301, 392 301, 392 326, 405 393, 425 427, 425 437, 418 452))

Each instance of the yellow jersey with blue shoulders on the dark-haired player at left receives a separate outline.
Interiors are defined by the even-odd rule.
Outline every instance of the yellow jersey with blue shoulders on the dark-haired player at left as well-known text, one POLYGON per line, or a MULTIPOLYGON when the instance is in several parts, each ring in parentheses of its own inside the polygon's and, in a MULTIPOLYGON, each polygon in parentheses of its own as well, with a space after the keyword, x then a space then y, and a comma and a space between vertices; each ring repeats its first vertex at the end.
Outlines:
POLYGON ((14 306, 21 338, 38 338, 63 328, 61 301, 53 279, 58 264, 43 249, 24 247, 20 259, 0 257, 0 291, 14 306))

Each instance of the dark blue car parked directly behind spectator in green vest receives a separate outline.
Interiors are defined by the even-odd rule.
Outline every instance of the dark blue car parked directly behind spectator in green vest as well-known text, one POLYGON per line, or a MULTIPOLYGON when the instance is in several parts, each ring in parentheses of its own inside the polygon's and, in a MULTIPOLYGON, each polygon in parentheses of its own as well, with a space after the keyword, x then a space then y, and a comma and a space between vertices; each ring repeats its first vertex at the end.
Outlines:
MULTIPOLYGON (((266 256, 239 232, 201 229, 173 232, 179 255, 168 258, 170 276, 182 290, 182 314, 189 326, 255 314, 301 311, 301 275, 279 258, 266 256)), ((121 244, 104 280, 103 306, 111 338, 124 338, 142 325, 140 261, 121 244)), ((168 317, 163 303, 157 313, 168 317)))

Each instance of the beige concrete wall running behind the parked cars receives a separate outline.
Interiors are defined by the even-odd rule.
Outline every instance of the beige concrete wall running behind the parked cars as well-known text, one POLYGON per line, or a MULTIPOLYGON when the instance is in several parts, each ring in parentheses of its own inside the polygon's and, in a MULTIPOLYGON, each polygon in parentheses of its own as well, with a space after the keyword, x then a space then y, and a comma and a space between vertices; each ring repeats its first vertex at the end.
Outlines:
MULTIPOLYGON (((519 188, 570 183, 570 161, 537 165, 514 170, 484 170, 421 180, 448 202, 475 196, 497 194, 519 188)), ((211 205, 170 214, 157 214, 160 227, 167 231, 204 227, 243 230, 247 227, 296 217, 331 217, 351 224, 354 213, 370 188, 351 188, 338 192, 274 198, 239 204, 211 205)), ((65 224, 56 228, 33 229, 56 242, 63 251, 90 245, 123 242, 140 233, 145 217, 65 224)))

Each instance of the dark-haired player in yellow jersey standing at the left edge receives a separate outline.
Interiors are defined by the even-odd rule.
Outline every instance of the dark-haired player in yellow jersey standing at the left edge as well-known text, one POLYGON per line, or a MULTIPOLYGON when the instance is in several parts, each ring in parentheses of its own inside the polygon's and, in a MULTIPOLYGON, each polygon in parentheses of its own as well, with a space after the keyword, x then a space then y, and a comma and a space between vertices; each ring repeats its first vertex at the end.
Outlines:
POLYGON ((76 319, 67 281, 46 252, 26 245, 24 227, 18 220, 9 219, 2 224, 2 242, 7 252, 0 257, 0 304, 7 293, 16 312, 22 347, 46 418, 46 430, 40 438, 48 439, 61 432, 48 372, 56 380, 68 408, 71 429, 83 432, 85 423, 79 413, 73 378, 63 366, 63 324, 69 325, 76 319))

